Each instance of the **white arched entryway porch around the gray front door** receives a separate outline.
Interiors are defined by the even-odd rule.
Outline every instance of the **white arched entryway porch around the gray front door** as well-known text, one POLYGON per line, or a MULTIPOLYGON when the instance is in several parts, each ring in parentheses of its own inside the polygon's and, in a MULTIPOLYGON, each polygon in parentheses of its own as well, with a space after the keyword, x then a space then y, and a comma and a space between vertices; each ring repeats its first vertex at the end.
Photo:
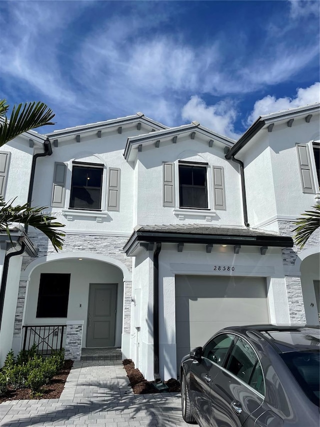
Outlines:
MULTIPOLYGON (((61 335, 56 340, 66 347, 76 341, 77 353, 83 347, 122 347, 124 306, 130 304, 128 279, 125 265, 103 255, 72 252, 35 260, 21 274, 20 283, 26 283, 21 346, 25 326, 60 325, 64 329, 54 332, 61 335)), ((29 331, 27 340, 37 333, 29 331)))

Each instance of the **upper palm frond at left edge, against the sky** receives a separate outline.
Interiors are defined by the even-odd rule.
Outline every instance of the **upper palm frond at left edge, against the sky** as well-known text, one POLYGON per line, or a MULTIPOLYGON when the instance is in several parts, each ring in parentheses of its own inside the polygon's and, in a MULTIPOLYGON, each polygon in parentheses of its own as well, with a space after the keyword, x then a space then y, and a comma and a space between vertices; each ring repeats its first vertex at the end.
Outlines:
POLYGON ((5 100, 0 101, 0 116, 4 116, 0 123, 0 147, 30 129, 54 124, 50 120, 55 115, 43 102, 14 105, 9 120, 5 115, 8 107, 5 100))

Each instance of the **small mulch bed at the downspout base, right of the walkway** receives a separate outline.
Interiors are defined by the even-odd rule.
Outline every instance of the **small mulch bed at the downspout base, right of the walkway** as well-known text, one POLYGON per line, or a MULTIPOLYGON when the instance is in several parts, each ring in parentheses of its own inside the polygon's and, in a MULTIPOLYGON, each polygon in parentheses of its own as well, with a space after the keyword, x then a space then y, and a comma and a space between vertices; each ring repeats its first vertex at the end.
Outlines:
MULTIPOLYGON (((147 381, 144 379, 139 369, 134 368, 134 363, 131 359, 124 359, 122 363, 134 394, 160 393, 153 385, 155 381, 147 381)), ((168 387, 168 392, 180 391, 180 383, 176 379, 170 378, 164 381, 164 384, 168 387)))

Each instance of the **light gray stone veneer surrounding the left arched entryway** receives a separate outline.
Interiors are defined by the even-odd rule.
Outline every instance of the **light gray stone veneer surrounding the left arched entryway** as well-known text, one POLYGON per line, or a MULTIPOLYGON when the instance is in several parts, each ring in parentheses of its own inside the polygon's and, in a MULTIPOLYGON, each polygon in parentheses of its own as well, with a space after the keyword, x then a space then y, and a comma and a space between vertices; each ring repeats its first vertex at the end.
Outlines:
MULTIPOLYGON (((34 244, 39 248, 38 257, 56 253, 53 246, 44 234, 29 233, 29 237, 34 244)), ((77 252, 86 251, 96 254, 106 255, 111 258, 121 261, 129 271, 131 271, 132 260, 128 258, 122 251, 122 247, 126 243, 127 238, 123 236, 97 236, 90 234, 66 234, 64 238, 63 251, 77 252)), ((24 271, 26 267, 34 261, 30 256, 23 256, 21 270, 24 271)), ((14 332, 13 335, 21 335, 22 317, 25 303, 25 292, 27 282, 21 280, 19 283, 17 304, 15 310, 14 332)), ((129 331, 130 316, 131 316, 131 282, 126 281, 124 285, 124 318, 123 329, 129 331)), ((125 333, 123 330, 123 332, 125 333)))

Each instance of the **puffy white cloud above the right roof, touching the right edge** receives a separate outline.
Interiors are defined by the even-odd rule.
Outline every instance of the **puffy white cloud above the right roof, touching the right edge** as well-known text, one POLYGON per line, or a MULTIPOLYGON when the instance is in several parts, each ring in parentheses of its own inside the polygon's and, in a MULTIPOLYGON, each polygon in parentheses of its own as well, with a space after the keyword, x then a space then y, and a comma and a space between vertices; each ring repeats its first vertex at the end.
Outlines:
POLYGON ((284 97, 276 99, 274 96, 267 95, 254 103, 253 110, 247 119, 247 125, 251 125, 259 116, 288 110, 290 108, 297 108, 307 104, 314 104, 316 102, 320 102, 319 82, 305 89, 298 88, 295 98, 284 97))

